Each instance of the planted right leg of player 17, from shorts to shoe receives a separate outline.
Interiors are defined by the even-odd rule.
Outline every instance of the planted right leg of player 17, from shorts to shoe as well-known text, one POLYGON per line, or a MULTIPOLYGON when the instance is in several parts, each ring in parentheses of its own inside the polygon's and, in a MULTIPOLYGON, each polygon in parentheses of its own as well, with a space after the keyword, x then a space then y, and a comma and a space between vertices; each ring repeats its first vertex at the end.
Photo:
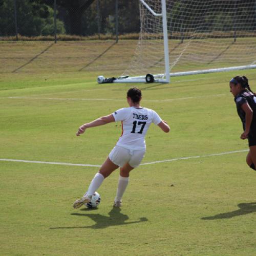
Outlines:
POLYGON ((122 197, 129 183, 130 172, 135 167, 140 165, 144 157, 145 151, 134 151, 134 152, 130 152, 130 154, 131 154, 131 158, 129 162, 125 163, 123 167, 120 168, 120 177, 118 180, 117 193, 114 201, 114 206, 116 207, 122 206, 122 197))

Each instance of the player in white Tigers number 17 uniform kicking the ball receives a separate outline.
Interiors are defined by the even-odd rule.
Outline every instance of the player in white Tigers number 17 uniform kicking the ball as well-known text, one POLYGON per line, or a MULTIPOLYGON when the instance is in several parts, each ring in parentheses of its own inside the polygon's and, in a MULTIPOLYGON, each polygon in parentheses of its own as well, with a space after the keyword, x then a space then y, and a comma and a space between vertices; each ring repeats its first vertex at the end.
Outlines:
POLYGON ((77 209, 84 203, 90 202, 92 195, 99 188, 103 180, 118 167, 120 167, 120 177, 114 206, 120 207, 122 205, 122 196, 129 182, 129 174, 132 169, 139 166, 144 157, 146 150, 144 137, 148 127, 150 127, 151 123, 154 123, 165 133, 169 132, 169 125, 154 110, 140 106, 141 96, 141 91, 138 88, 131 88, 127 92, 127 102, 130 108, 119 109, 108 116, 100 117, 79 127, 76 133, 77 136, 84 133, 88 128, 121 121, 122 134, 109 157, 91 181, 87 193, 81 199, 74 202, 74 208, 77 209))

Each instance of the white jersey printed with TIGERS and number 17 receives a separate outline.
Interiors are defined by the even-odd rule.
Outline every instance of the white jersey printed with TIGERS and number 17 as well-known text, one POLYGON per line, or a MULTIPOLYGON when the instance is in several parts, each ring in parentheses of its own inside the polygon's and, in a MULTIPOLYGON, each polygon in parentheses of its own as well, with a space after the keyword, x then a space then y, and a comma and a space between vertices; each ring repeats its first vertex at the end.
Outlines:
POLYGON ((119 109, 112 115, 116 122, 122 121, 122 135, 116 145, 129 150, 145 150, 145 135, 150 124, 162 121, 154 110, 134 106, 119 109))

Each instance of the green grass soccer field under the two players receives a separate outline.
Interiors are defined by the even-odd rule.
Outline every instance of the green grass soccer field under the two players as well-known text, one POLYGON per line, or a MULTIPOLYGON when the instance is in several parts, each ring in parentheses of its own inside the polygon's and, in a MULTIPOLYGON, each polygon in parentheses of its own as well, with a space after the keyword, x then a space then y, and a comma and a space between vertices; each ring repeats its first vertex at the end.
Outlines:
MULTIPOLYGON (((123 62, 112 70, 68 72, 59 52, 59 70, 51 71, 47 58, 40 59, 44 54, 33 59, 46 48, 40 42, 0 48, 6 54, 0 158, 100 165, 120 136, 120 123, 75 133, 127 105, 131 84, 95 82, 99 71, 117 73, 123 62)), ((248 146, 228 87, 237 74, 256 91, 255 70, 137 85, 142 105, 156 110, 171 131, 151 126, 144 165, 131 173, 121 210, 112 208, 118 172, 99 188, 99 208, 74 210, 98 167, 0 161, 0 254, 256 255, 256 172, 245 163, 248 146), (147 164, 163 160, 170 161, 147 164)))

